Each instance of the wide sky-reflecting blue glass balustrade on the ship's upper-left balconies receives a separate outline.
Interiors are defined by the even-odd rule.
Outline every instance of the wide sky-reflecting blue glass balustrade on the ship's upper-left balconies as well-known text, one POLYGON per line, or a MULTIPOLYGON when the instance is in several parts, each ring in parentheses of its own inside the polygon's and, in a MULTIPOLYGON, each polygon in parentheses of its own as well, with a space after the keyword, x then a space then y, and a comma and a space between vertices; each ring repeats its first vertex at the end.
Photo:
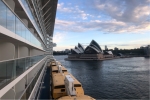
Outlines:
POLYGON ((2 0, 0 0, 0 25, 21 36, 35 46, 43 48, 40 41, 36 39, 22 21, 6 7, 2 0))

